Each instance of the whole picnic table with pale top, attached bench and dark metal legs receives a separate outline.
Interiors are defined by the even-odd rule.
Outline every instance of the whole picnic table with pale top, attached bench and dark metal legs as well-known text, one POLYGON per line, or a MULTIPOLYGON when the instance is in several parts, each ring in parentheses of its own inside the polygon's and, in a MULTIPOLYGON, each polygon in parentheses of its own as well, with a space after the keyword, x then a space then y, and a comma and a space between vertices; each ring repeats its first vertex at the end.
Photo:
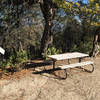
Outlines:
POLYGON ((92 65, 92 70, 90 72, 94 71, 94 63, 92 61, 82 62, 83 58, 89 57, 89 55, 85 54, 85 53, 72 52, 72 53, 50 55, 48 57, 51 58, 52 61, 53 61, 53 69, 55 69, 55 67, 56 67, 56 61, 65 60, 65 59, 69 61, 70 59, 76 59, 76 58, 79 59, 78 63, 58 66, 58 68, 65 70, 66 78, 67 78, 67 70, 66 70, 67 68, 74 68, 74 67, 82 67, 82 66, 86 66, 86 65, 92 65))

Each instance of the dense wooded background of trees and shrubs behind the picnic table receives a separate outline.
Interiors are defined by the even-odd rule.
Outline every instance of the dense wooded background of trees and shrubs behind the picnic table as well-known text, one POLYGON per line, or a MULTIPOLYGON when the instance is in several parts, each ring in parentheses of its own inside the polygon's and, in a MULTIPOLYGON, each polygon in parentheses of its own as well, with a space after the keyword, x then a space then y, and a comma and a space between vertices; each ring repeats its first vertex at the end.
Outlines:
MULTIPOLYGON (((0 1, 0 46, 6 50, 0 68, 16 66, 40 57, 43 48, 41 44, 48 42, 43 41, 43 34, 45 31, 49 33, 49 30, 45 30, 46 21, 49 22, 49 17, 45 15, 49 11, 44 14, 41 5, 43 7, 45 4, 48 9, 51 1, 0 1)), ((100 25, 100 1, 53 0, 52 2, 54 5, 52 9, 55 11, 52 27, 50 26, 53 41, 44 47, 43 56, 46 58, 47 55, 72 51, 89 54, 93 48, 94 32, 100 25)), ((52 15, 52 12, 50 13, 52 15)), ((46 35, 45 39, 50 37, 49 35, 46 35)))

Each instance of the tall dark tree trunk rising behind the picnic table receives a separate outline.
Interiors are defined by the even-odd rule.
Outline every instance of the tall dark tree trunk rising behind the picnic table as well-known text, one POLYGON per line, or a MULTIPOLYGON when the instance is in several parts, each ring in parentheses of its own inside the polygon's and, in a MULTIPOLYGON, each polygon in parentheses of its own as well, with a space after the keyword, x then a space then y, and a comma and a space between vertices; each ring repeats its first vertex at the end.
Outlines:
POLYGON ((45 28, 41 39, 41 54, 45 53, 49 45, 53 42, 53 19, 55 15, 55 8, 52 0, 43 0, 40 7, 45 19, 45 28))

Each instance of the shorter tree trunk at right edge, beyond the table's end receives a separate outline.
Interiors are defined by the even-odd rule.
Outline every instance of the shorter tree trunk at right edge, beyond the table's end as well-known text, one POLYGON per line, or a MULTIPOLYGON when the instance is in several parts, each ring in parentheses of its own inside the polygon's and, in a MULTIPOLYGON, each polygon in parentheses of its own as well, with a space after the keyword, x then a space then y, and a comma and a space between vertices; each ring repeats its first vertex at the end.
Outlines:
POLYGON ((98 42, 100 42, 100 27, 96 30, 96 32, 94 34, 93 49, 90 53, 90 56, 95 57, 99 53, 98 42))

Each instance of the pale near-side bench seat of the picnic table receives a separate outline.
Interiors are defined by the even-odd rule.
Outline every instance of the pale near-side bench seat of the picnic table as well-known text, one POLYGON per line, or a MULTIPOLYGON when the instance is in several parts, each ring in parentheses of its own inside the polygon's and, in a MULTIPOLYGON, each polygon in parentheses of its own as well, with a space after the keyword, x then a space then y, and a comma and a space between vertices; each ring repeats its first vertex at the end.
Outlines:
POLYGON ((94 63, 92 61, 85 61, 85 62, 74 63, 74 64, 69 64, 69 65, 62 65, 62 66, 59 66, 59 68, 67 69, 67 68, 73 68, 73 67, 85 66, 85 65, 93 65, 93 64, 94 63))

